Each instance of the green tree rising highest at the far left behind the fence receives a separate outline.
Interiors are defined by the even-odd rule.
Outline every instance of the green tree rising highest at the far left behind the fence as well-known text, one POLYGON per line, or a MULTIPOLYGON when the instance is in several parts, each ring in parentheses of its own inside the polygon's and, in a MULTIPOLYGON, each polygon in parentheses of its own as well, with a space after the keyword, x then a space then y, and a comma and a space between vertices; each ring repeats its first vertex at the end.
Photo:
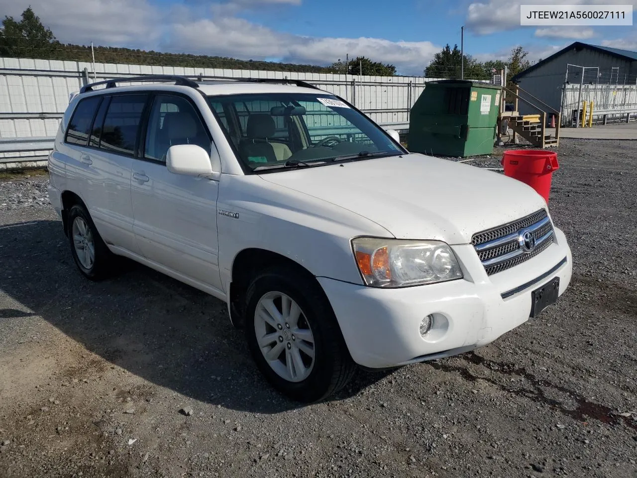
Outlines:
POLYGON ((50 55, 57 43, 53 32, 40 22, 31 7, 22 12, 19 22, 4 17, 0 30, 0 55, 5 57, 38 57, 50 55))

